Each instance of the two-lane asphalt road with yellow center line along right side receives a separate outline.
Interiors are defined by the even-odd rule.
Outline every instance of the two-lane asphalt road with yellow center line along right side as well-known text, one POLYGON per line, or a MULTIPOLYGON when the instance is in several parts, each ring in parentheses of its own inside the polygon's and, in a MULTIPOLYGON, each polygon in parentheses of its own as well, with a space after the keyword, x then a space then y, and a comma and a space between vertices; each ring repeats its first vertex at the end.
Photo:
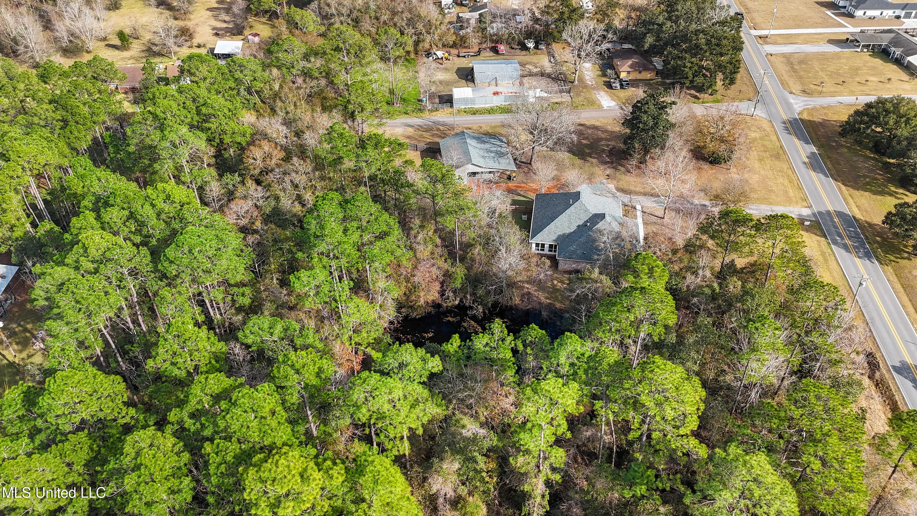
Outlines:
MULTIPOLYGON (((909 408, 917 408, 917 368, 911 360, 912 356, 917 357, 917 332, 857 227, 856 218, 851 215, 821 156, 803 129, 797 117, 798 97, 787 93, 770 73, 767 57, 747 26, 743 27, 743 37, 746 46, 742 57, 756 82, 761 84, 761 102, 777 127, 783 148, 799 175, 815 217, 822 224, 847 281, 856 292, 861 283, 860 277, 867 275, 871 278, 860 288, 856 301, 889 363, 905 402, 909 408), (765 71, 768 73, 762 80, 765 71)), ((861 97, 860 101, 863 100, 861 97)))

